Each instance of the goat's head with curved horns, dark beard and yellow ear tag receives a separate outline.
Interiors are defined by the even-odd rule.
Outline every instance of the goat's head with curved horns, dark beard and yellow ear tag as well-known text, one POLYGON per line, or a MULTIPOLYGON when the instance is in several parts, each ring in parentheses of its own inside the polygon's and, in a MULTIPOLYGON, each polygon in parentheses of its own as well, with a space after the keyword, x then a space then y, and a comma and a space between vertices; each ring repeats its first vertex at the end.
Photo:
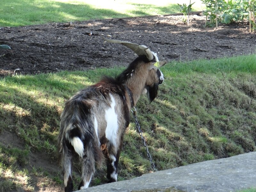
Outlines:
MULTIPOLYGON (((139 86, 140 83, 142 82, 136 82, 137 86, 140 90, 139 94, 148 94, 148 99, 149 101, 153 101, 156 98, 157 92, 158 92, 158 85, 162 84, 164 81, 164 75, 160 71, 159 67, 164 66, 166 61, 159 61, 157 54, 154 52, 151 52, 150 49, 145 46, 145 45, 139 45, 139 44, 134 44, 128 41, 121 41, 121 40, 112 40, 112 39, 106 39, 102 37, 104 41, 107 41, 109 43, 115 43, 115 44, 122 44, 128 48, 130 48, 132 51, 134 51, 139 58, 139 62, 136 62, 134 60, 130 66, 126 69, 127 74, 129 76, 132 76, 132 71, 135 65, 140 65, 136 66, 139 67, 140 70, 138 73, 140 73, 140 80, 144 80, 142 87, 139 86)), ((133 78, 133 77, 130 77, 133 78)), ((136 85, 135 85, 136 86, 136 85)), ((136 103, 137 101, 135 101, 136 103)))

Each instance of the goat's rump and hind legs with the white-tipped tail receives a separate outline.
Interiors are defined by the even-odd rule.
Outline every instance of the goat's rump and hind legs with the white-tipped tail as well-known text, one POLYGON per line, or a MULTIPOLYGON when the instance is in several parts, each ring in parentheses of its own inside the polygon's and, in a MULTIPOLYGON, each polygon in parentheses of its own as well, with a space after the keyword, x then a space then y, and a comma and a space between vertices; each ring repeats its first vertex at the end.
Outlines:
POLYGON ((100 166, 103 159, 100 142, 93 125, 92 127, 81 126, 83 125, 67 124, 65 120, 61 121, 60 124, 59 153, 60 164, 64 173, 65 191, 72 191, 73 189, 72 155, 74 152, 82 158, 83 182, 81 182, 81 186, 88 187, 95 172, 95 165, 100 166))

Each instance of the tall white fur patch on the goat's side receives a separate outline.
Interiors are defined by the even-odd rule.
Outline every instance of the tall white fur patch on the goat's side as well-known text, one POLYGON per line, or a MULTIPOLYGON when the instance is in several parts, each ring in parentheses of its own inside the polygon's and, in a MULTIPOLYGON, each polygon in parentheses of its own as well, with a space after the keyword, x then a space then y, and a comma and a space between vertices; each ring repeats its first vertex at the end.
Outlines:
POLYGON ((105 119, 107 122, 106 127, 106 138, 116 147, 116 138, 117 138, 117 130, 118 130, 118 123, 117 123, 117 114, 115 112, 116 102, 114 100, 113 95, 109 95, 111 99, 110 108, 105 111, 105 119))

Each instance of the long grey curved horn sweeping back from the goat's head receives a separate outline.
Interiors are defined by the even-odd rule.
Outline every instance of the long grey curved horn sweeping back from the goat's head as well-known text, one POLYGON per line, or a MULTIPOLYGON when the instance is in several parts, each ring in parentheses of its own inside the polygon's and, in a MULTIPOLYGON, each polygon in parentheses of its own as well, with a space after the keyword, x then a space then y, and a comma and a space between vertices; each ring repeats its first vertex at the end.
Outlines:
POLYGON ((145 55, 147 56, 148 60, 154 59, 154 56, 150 49, 148 49, 145 45, 138 45, 135 43, 131 43, 129 41, 121 41, 121 40, 113 40, 113 39, 106 39, 105 37, 101 36, 104 41, 109 43, 117 43, 122 44, 128 48, 130 48, 133 52, 135 52, 138 56, 145 55))

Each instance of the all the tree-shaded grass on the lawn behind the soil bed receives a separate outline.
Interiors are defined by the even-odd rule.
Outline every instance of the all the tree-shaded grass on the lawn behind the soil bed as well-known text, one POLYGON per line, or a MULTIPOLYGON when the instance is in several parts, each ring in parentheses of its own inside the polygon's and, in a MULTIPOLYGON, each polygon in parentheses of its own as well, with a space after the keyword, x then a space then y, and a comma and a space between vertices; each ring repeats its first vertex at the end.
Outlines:
POLYGON ((152 12, 158 15, 178 12, 178 5, 175 4, 168 6, 132 5, 134 10, 130 10, 125 14, 111 9, 96 8, 85 3, 71 4, 52 1, 35 3, 34 1, 25 2, 19 0, 13 0, 10 3, 8 0, 2 0, 0 6, 3 12, 0 13, 0 26, 24 26, 51 22, 144 16, 150 15, 152 12))

